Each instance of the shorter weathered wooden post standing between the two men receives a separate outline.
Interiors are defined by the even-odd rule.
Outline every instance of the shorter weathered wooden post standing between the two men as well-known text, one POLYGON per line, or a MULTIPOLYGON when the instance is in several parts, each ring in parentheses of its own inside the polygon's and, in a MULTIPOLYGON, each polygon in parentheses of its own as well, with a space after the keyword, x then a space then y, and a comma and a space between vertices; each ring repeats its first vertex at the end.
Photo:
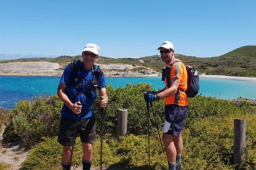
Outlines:
POLYGON ((118 109, 118 127, 117 134, 119 136, 127 134, 127 109, 118 109))

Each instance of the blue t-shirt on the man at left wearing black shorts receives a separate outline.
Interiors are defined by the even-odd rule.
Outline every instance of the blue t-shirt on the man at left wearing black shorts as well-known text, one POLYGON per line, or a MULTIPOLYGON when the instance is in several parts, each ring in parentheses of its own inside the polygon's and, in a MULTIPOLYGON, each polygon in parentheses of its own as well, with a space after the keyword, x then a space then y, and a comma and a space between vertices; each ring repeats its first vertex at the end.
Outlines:
MULTIPOLYGON (((65 68, 61 76, 60 82, 67 85, 65 93, 72 103, 75 103, 77 101, 80 101, 82 103, 81 114, 78 117, 78 119, 80 120, 80 119, 86 119, 91 116, 94 116, 92 104, 93 104, 93 100, 97 98, 97 92, 96 90, 93 90, 91 88, 91 83, 90 83, 93 79, 95 79, 95 76, 93 77, 93 74, 92 74, 93 67, 91 70, 88 71, 84 69, 82 63, 77 62, 77 64, 80 64, 80 67, 76 66, 80 68, 77 71, 77 74, 83 77, 80 85, 77 85, 77 86, 69 85, 69 82, 71 81, 70 78, 72 78, 71 68, 69 67, 69 65, 67 65, 67 67, 65 68)), ((105 82, 105 76, 103 74, 101 79, 99 80, 97 88, 100 89, 104 87, 106 87, 106 82, 105 82)), ((66 104, 64 104, 61 111, 61 117, 76 119, 76 116, 77 114, 73 113, 73 111, 70 110, 66 104)))

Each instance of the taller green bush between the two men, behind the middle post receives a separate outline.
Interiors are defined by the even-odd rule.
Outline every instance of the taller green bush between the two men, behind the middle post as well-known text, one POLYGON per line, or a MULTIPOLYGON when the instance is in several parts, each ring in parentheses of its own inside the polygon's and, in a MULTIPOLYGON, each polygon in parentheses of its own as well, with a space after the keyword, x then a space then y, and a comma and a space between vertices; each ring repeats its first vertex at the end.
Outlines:
MULTIPOLYGON (((152 91, 152 85, 148 84, 129 84, 127 82, 125 87, 117 87, 113 89, 110 84, 107 86, 108 93, 108 106, 104 109, 104 133, 109 133, 112 135, 117 135, 117 125, 118 125, 118 109, 127 109, 128 110, 128 120, 127 120, 127 133, 128 134, 147 134, 147 106, 144 100, 143 92, 152 91)), ((99 107, 99 98, 94 102, 93 108, 96 113, 97 122, 101 121, 101 116, 98 114, 99 107)), ((164 101, 153 102, 153 109, 157 123, 162 125, 164 122, 164 101)), ((151 132, 155 132, 156 125, 154 122, 154 116, 150 108, 150 127, 151 132)), ((96 124, 98 131, 100 130, 100 123, 96 124)))

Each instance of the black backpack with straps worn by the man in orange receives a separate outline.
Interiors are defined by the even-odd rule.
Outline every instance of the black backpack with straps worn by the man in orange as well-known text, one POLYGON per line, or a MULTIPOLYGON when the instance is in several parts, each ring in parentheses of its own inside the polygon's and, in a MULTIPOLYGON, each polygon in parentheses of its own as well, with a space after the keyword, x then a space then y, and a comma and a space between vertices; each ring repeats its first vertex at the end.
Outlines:
MULTIPOLYGON (((165 67, 165 69, 162 69, 162 81, 165 81, 165 78, 166 78, 168 88, 170 88, 171 68, 172 68, 173 64, 176 62, 181 62, 181 61, 175 60, 175 61, 173 61, 172 64, 170 64, 170 66, 167 66, 167 67, 165 67)), ((197 74, 197 70, 194 67, 189 66, 189 65, 185 65, 185 67, 186 67, 187 75, 188 75, 188 88, 187 88, 187 90, 182 90, 180 88, 179 89, 181 91, 185 91, 188 98, 193 98, 199 92, 199 75, 197 74)))

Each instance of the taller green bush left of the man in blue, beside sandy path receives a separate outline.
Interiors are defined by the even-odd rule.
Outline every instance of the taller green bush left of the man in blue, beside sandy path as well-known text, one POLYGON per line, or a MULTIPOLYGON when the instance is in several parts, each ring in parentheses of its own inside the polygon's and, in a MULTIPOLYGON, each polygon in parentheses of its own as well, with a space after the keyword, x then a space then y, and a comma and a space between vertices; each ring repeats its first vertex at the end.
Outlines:
POLYGON ((8 142, 13 140, 13 136, 18 136, 25 148, 31 148, 42 137, 56 136, 62 105, 57 95, 42 95, 32 100, 19 101, 10 111, 12 122, 4 131, 4 140, 8 142))

